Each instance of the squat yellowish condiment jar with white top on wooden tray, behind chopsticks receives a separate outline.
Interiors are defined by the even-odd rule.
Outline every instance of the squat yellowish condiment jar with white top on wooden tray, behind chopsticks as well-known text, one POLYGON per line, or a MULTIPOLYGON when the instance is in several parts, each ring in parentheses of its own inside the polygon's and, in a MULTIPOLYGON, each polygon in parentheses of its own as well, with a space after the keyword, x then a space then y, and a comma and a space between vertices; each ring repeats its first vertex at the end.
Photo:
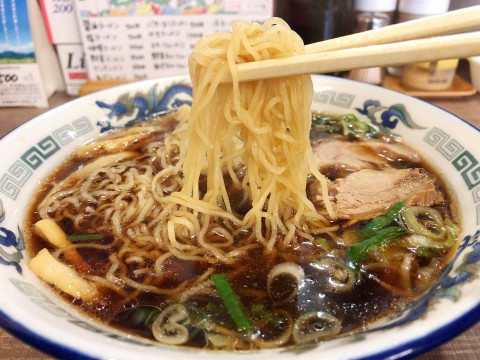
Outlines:
MULTIPOLYGON (((449 5, 450 0, 400 0, 398 22, 441 14, 449 5)), ((402 84, 418 90, 445 90, 452 85, 457 66, 458 59, 405 65, 402 84)))

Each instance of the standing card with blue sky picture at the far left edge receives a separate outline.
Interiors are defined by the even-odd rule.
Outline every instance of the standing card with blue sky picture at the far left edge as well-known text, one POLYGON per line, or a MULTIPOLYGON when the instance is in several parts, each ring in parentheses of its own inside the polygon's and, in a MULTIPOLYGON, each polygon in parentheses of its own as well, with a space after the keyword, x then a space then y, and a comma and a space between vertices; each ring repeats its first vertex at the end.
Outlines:
POLYGON ((35 0, 0 0, 0 106, 48 106, 63 81, 35 0))

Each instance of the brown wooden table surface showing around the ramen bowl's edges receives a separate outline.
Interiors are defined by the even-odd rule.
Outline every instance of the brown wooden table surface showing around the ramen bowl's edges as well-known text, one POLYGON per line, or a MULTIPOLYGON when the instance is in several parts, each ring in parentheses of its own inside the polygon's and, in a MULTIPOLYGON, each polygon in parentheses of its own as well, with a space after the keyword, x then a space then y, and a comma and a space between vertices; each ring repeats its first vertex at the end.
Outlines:
MULTIPOLYGON (((50 108, 71 100, 63 93, 55 94, 50 99, 50 108)), ((459 99, 435 99, 429 102, 458 115, 480 128, 480 94, 459 99)), ((0 137, 10 130, 31 119, 47 109, 0 109, 0 137)), ((5 156, 5 155, 2 155, 5 156)), ((1 296, 4 296, 2 294, 1 296)), ((51 359, 30 345, 12 337, 0 329, 0 359, 51 359)), ((443 346, 431 350, 416 358, 417 360, 480 360, 480 323, 470 328, 443 346)))

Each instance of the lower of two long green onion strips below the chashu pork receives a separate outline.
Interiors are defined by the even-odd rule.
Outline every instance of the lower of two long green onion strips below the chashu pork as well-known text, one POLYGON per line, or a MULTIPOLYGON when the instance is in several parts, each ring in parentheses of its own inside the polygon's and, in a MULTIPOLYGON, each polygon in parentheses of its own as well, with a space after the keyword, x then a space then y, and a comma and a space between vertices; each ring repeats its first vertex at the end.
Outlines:
POLYGON ((390 226, 378 230, 375 235, 350 247, 347 253, 347 266, 353 270, 358 270, 370 251, 403 234, 405 234, 405 230, 399 226, 390 226))

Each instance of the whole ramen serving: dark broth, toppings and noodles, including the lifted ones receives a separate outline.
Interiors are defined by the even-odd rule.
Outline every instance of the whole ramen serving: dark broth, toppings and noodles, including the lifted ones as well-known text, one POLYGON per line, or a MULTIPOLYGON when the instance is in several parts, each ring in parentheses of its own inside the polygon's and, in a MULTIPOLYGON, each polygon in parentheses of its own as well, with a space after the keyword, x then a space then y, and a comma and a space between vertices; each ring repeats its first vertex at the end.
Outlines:
POLYGON ((100 136, 45 181, 32 271, 113 326, 212 349, 310 344, 408 305, 454 248, 451 196, 398 138, 312 118, 309 76, 238 81, 236 64, 303 52, 275 18, 199 41, 191 108, 100 136))

